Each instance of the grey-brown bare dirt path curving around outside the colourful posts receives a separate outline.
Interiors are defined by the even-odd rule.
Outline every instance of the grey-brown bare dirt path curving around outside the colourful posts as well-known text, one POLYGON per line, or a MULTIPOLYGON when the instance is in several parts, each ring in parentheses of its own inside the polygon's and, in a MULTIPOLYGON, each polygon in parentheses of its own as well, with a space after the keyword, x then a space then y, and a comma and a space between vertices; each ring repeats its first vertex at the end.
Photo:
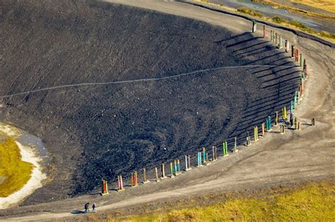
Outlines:
MULTIPOLYGON (((248 20, 228 16, 173 1, 111 0, 154 11, 203 20, 213 25, 227 27, 240 34, 251 30, 248 20)), ((268 30, 270 27, 267 27, 268 30)), ((272 30, 276 30, 271 28, 272 30)), ((287 130, 285 135, 275 128, 266 137, 250 147, 240 147, 240 152, 219 159, 209 166, 194 168, 173 179, 148 183, 136 188, 126 187, 125 192, 111 195, 86 195, 63 201, 0 211, 0 221, 46 221, 74 217, 71 211, 83 209, 85 202, 96 202, 99 211, 118 209, 154 202, 171 197, 183 197, 205 192, 228 192, 253 187, 294 183, 300 180, 334 178, 335 157, 335 50, 319 42, 297 37, 291 32, 281 32, 284 39, 294 44, 307 61, 308 80, 305 95, 295 114, 301 119, 302 130, 287 130), (315 127, 309 125, 315 117, 315 127), (27 213, 30 212, 30 213, 27 213)), ((259 30, 256 35, 261 35, 259 30)), ((76 216, 77 218, 80 216, 76 216)))

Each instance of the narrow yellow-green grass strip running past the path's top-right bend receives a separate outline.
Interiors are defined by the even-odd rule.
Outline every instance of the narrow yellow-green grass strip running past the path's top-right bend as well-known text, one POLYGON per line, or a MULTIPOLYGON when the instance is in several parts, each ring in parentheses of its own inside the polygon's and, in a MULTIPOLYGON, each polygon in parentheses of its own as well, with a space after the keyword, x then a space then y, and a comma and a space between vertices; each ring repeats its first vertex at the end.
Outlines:
MULTIPOLYGON (((317 35, 317 36, 322 37, 324 39, 327 39, 331 42, 335 42, 335 34, 329 33, 329 32, 326 32, 326 31, 318 32, 317 30, 312 29, 310 27, 306 27, 302 23, 300 23, 298 21, 295 21, 295 20, 285 20, 285 19, 280 18, 278 16, 276 16, 274 18, 269 18, 269 17, 263 16, 261 13, 258 13, 256 11, 252 11, 249 8, 237 8, 237 10, 235 10, 233 8, 227 8, 227 7, 222 6, 222 5, 213 4, 208 0, 193 0, 193 1, 197 1, 197 2, 205 3, 205 4, 208 4, 208 5, 211 5, 211 6, 215 6, 217 8, 221 8, 223 10, 237 11, 237 12, 240 12, 240 13, 245 13, 249 16, 254 16, 254 17, 257 17, 257 18, 261 18, 262 20, 267 20, 267 21, 270 21, 270 22, 273 22, 273 23, 278 23, 278 24, 281 24, 283 26, 293 28, 295 30, 300 30, 302 32, 307 32, 307 33, 310 33, 312 35, 317 35)), ((255 0, 255 1, 258 1, 258 0, 255 0)), ((333 18, 333 19, 335 19, 335 18, 333 18)))

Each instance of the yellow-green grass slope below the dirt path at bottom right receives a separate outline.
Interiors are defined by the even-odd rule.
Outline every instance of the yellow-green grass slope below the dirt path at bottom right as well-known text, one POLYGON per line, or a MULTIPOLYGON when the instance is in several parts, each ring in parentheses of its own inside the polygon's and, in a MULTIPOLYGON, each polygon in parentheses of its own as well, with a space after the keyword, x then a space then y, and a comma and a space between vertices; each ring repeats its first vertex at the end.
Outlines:
POLYGON ((209 206, 191 206, 163 214, 125 216, 110 221, 334 221, 333 180, 309 183, 289 192, 271 192, 271 195, 237 197, 209 206))

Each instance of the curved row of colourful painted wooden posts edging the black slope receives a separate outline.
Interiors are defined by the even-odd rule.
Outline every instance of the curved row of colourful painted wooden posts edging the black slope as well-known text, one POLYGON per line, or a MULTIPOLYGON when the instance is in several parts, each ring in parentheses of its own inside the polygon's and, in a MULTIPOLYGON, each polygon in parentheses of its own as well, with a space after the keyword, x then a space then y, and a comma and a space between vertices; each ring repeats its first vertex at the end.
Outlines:
MULTIPOLYGON (((257 29, 257 23, 253 21, 253 26, 252 26, 252 32, 256 32, 257 29)), ((265 25, 263 26, 263 38, 266 37, 266 27, 265 25)), ((277 32, 271 30, 270 32, 270 40, 271 42, 274 42, 276 47, 278 49, 281 49, 283 47, 283 38, 282 35, 278 34, 277 32)), ((298 121, 298 118, 293 116, 293 109, 297 109, 297 105, 299 104, 300 98, 302 97, 303 93, 303 82, 307 78, 307 64, 305 58, 302 59, 302 54, 299 52, 298 49, 295 48, 294 45, 290 47, 290 43, 288 40, 285 40, 285 51, 288 53, 289 49, 291 48, 291 57, 295 58, 295 62, 300 63, 300 67, 302 67, 302 76, 300 78, 300 85, 298 91, 295 92, 295 97, 293 101, 290 101, 290 124, 291 126, 294 125, 295 130, 300 130, 300 121, 298 121)), ((281 118, 283 121, 288 121, 288 114, 286 110, 286 106, 283 106, 283 109, 281 109, 281 118)), ((275 112, 275 123, 274 125, 278 125, 279 123, 279 113, 278 111, 275 112)), ((264 123, 261 123, 261 136, 264 137, 265 132, 271 131, 271 116, 268 116, 266 118, 266 121, 264 123)), ((311 120, 311 125, 315 125, 315 118, 312 118, 311 120)), ((285 125, 280 126, 280 133, 283 134, 285 133, 285 125)), ((258 126, 254 126, 254 142, 258 140, 258 131, 259 128, 258 126)), ((251 144, 251 137, 249 135, 249 132, 247 132, 247 139, 246 139, 246 146, 249 146, 251 144)), ((233 145, 233 150, 232 152, 237 152, 237 137, 234 138, 234 145, 233 145)), ((217 147, 212 147, 211 150, 211 161, 216 161, 217 160, 217 147)), ((223 142, 223 156, 228 156, 228 142, 225 141, 223 142)), ((190 161, 190 156, 184 156, 185 158, 185 168, 184 171, 189 171, 191 170, 191 161, 190 161)), ((196 154, 196 159, 197 159, 197 167, 203 166, 203 164, 208 165, 210 164, 210 161, 208 160, 208 152, 206 152, 206 148, 203 147, 202 152, 198 152, 196 154)), ((170 163, 170 178, 175 177, 176 175, 179 175, 181 173, 180 171, 180 159, 175 159, 175 161, 170 163)), ((159 182, 162 179, 167 178, 165 175, 165 165, 161 164, 161 175, 159 177, 158 175, 158 168, 155 167, 155 181, 159 182)), ((146 178, 146 169, 143 168, 143 183, 148 183, 149 180, 146 178)), ((134 171, 131 173, 131 187, 136 187, 138 186, 138 178, 137 178, 137 171, 134 171)), ((124 190, 123 186, 123 180, 122 180, 122 175, 118 175, 117 177, 117 191, 122 191, 124 190)), ((108 187, 107 187, 107 180, 102 180, 102 195, 107 195, 108 194, 108 187)))

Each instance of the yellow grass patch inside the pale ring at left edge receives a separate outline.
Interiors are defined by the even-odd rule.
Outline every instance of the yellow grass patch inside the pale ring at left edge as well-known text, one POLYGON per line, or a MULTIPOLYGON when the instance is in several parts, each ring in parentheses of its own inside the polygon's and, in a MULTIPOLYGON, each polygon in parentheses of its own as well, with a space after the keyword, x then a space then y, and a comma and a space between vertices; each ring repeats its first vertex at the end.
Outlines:
POLYGON ((8 197, 20 190, 30 179, 33 164, 21 160, 15 140, 0 132, 0 197, 8 197))

